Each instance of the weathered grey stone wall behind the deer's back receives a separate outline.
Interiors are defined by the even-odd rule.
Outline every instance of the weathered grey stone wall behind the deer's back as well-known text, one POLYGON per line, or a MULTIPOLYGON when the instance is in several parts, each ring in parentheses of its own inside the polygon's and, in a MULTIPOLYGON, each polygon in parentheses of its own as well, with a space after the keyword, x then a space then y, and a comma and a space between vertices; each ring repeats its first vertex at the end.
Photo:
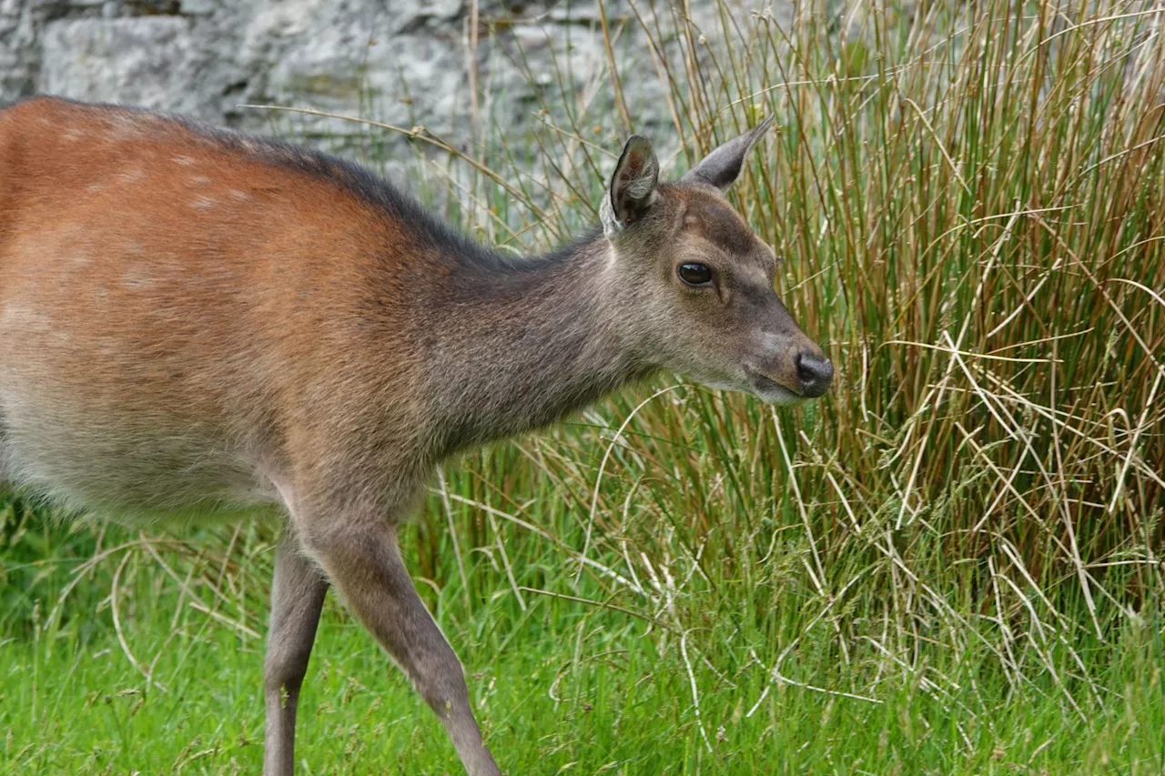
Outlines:
MULTIPOLYGON (((755 5, 727 2, 742 22, 755 5)), ((479 121, 496 126, 528 124, 539 90, 563 87, 563 77, 592 110, 614 110, 598 0, 476 5, 474 14, 473 0, 0 0, 0 100, 51 93, 259 130, 271 112, 240 105, 310 106, 464 141, 472 72, 479 121)), ((790 15, 788 0, 777 6, 790 15)), ((636 125, 668 124, 633 7, 605 7, 636 125)), ((671 14, 666 0, 635 8, 671 14)), ((713 0, 689 8, 698 24, 719 29, 713 0)), ((333 146, 366 132, 296 121, 298 134, 333 146)))

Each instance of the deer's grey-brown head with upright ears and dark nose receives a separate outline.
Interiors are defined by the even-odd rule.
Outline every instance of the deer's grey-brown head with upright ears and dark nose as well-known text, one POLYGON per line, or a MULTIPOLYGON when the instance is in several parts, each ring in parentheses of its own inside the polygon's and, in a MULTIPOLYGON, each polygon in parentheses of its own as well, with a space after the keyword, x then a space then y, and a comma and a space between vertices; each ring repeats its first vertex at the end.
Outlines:
POLYGON ((774 290, 778 260, 723 192, 772 125, 659 182, 651 143, 631 136, 600 204, 623 336, 655 366, 771 403, 822 395, 833 365, 774 290), (630 312, 634 311, 634 312, 630 312))

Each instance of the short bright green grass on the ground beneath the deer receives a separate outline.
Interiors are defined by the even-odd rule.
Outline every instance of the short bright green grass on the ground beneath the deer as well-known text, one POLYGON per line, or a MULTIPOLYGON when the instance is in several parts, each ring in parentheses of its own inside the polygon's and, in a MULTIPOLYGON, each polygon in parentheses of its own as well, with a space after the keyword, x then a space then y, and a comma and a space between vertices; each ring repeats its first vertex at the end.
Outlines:
MULTIPOLYGON (((195 594, 185 600, 176 584, 160 583, 157 560, 134 537, 107 531, 105 542, 125 538, 133 546, 97 565, 96 578, 78 588, 76 601, 104 612, 69 607, 63 621, 54 622, 51 597, 40 604, 9 602, 7 632, 19 626, 10 615, 28 606, 24 621, 37 627, 28 637, 0 644, 0 773, 255 773, 263 724, 257 693, 262 642, 247 629, 261 627, 263 612, 261 601, 250 601, 254 609, 242 602, 250 599, 247 587, 257 585, 252 572, 261 576, 269 563, 263 534, 262 527, 253 527, 236 537, 257 556, 247 571, 232 570, 227 556, 192 555, 205 546, 221 551, 231 531, 205 532, 189 545, 158 542, 154 549, 179 578, 202 580, 191 585, 195 594), (228 592, 218 605, 214 587, 228 592), (119 644, 110 611, 113 592, 127 648, 149 664, 150 682, 119 644)), ((407 530, 410 538, 418 534, 419 527, 407 530)), ((36 592, 49 594, 66 584, 73 573, 70 558, 85 573, 73 553, 93 555, 90 531, 70 536, 42 527, 38 536, 48 539, 38 550, 54 563, 36 564, 45 574, 33 585, 36 592)), ((555 557, 548 552, 511 560, 524 569, 520 576, 527 579, 520 581, 529 581, 535 576, 530 570, 555 557)), ((489 745, 509 773, 1162 769, 1160 647, 1144 627, 1130 626, 1109 644, 1076 644, 1086 664, 1096 668, 1087 679, 1104 687, 1093 699, 1083 677, 1062 679, 1079 691, 1081 715, 1065 701, 1059 680, 1031 672, 1016 689, 974 647, 958 657, 927 651, 908 668, 855 643, 847 663, 829 647, 827 620, 806 628, 806 619, 824 607, 805 612, 785 606, 757 618, 764 634, 734 633, 729 616, 709 616, 707 632, 689 634, 682 647, 673 634, 617 609, 530 594, 523 612, 504 574, 494 572, 485 557, 467 564, 474 587, 467 609, 461 600, 466 591, 447 566, 443 576, 453 580, 442 594, 421 587, 460 648, 489 745), (767 666, 790 646, 783 664, 790 683, 774 685, 767 666), (711 753, 693 714, 693 677, 711 753), (873 687, 876 703, 824 694, 804 684, 833 693, 873 687)), ((30 572, 8 565, 10 576, 30 572)), ((553 586, 571 588, 563 569, 548 573, 556 578, 553 586)), ((325 613, 301 703, 303 773, 459 773, 433 715, 389 669, 370 637, 334 605, 325 613)))

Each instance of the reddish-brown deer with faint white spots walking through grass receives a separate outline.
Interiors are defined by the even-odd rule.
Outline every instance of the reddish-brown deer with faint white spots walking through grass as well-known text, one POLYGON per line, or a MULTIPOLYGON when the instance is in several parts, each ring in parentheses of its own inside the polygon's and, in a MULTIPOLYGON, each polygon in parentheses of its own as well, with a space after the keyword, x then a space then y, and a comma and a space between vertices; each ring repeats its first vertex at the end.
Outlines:
POLYGON ((659 178, 622 148, 599 224, 545 255, 471 240, 324 153, 142 108, 0 111, 0 482, 128 525, 282 515, 264 776, 330 587, 469 776, 500 776, 396 539, 437 467, 659 371, 788 404, 833 366, 726 192, 772 125, 659 178))

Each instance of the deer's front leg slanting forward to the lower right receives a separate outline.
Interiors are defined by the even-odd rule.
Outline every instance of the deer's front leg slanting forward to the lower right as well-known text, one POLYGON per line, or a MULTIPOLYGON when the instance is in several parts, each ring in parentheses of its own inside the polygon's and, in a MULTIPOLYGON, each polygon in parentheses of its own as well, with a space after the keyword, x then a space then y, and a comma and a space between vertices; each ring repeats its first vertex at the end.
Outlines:
POLYGON ((461 663, 412 586, 395 527, 337 520, 330 528, 305 532, 312 557, 440 718, 469 776, 501 776, 469 710, 461 663))

